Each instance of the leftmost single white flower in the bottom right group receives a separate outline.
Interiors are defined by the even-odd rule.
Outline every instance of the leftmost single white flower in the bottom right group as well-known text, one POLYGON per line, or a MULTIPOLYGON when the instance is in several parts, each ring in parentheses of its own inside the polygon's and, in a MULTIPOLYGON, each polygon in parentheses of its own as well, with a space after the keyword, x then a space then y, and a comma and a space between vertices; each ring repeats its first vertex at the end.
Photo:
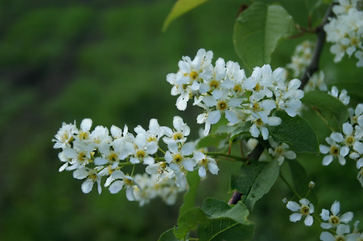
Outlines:
POLYGON ((294 212, 290 215, 290 221, 295 223, 296 221, 301 220, 303 216, 306 216, 304 223, 306 226, 311 226, 311 224, 313 224, 313 216, 311 216, 310 213, 314 212, 313 204, 306 198, 300 199, 299 203, 300 204, 289 201, 286 204, 286 207, 294 212))

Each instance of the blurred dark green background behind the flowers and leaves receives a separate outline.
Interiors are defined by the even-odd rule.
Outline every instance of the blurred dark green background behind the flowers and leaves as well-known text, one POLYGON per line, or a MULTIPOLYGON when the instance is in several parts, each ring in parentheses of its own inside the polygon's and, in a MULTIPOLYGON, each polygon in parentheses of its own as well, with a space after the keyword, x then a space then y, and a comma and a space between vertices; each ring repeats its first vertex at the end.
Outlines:
MULTIPOLYGON (((269 1, 273 2, 273 1, 269 1)), ((285 0, 282 5, 306 26, 315 1, 285 0)), ((166 75, 176 72, 181 56, 193 57, 199 48, 238 61, 232 44, 233 24, 243 0, 211 0, 173 22, 161 33, 174 1, 27 1, 3 0, 0 14, 0 240, 157 240, 176 224, 181 195, 175 206, 155 199, 139 207, 123 192, 81 191, 82 181, 71 172, 58 172, 61 162, 51 139, 62 122, 93 119, 93 126, 148 126, 157 118, 171 126, 180 115, 197 138, 196 116, 175 107, 166 75)), ((325 7, 314 12, 313 22, 325 7)), ((294 47, 314 35, 285 40, 272 57, 272 67, 290 61, 294 47)), ((362 69, 345 57, 334 64, 325 46, 322 68, 326 81, 346 87, 352 106, 362 102, 362 69)), ((191 103, 189 103, 191 104, 191 103)), ((320 119, 305 117, 319 140, 329 135, 320 119)), ((321 208, 340 200, 342 212, 363 220, 363 189, 351 160, 323 167, 322 156, 302 155, 299 162, 316 182, 321 208)), ((220 162, 218 176, 201 182, 197 204, 212 196, 228 200, 229 176, 238 163, 220 162)), ((282 167, 284 168, 284 166, 282 167)), ((139 168, 143 172, 142 167, 139 168)), ((318 224, 290 223, 281 202, 292 195, 278 180, 254 207, 253 240, 318 240, 318 224)))

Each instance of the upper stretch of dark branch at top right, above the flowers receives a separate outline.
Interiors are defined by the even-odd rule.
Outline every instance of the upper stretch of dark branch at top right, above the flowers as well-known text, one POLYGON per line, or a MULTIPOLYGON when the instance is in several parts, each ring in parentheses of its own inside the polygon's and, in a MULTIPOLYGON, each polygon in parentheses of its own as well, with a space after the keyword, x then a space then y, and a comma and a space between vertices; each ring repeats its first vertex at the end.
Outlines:
POLYGON ((325 31, 323 27, 329 21, 328 18, 333 15, 332 11, 333 5, 334 3, 332 3, 329 6, 329 8, 325 13, 325 16, 321 21, 321 24, 316 28, 316 33, 318 36, 317 36, 317 41, 315 43, 313 57, 311 58, 310 64, 306 67, 305 71, 302 73, 300 77, 301 85, 299 89, 303 89, 304 86, 307 84, 307 81, 309 81, 310 77, 313 75, 313 73, 319 69, 319 59, 325 42, 325 31))

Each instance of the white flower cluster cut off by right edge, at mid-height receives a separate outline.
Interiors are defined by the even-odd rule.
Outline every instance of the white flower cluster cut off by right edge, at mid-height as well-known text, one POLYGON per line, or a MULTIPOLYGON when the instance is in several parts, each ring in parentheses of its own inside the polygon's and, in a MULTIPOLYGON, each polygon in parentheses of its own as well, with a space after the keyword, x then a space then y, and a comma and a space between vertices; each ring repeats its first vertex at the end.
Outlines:
POLYGON ((363 104, 358 104, 354 109, 349 108, 349 121, 343 124, 343 133, 333 132, 325 138, 328 145, 320 145, 320 152, 327 154, 323 158, 323 165, 329 165, 334 159, 338 159, 341 165, 345 165, 345 157, 349 156, 356 161, 356 167, 360 169, 358 180, 363 187, 363 104), (349 154, 349 155, 348 155, 349 154))

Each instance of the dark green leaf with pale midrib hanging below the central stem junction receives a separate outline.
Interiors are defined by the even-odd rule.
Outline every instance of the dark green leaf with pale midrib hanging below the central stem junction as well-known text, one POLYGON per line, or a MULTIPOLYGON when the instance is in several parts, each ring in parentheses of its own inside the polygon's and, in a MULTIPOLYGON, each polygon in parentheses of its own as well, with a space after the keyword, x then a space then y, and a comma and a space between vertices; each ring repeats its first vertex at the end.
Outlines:
POLYGON ((231 175, 229 192, 242 193, 241 200, 249 211, 252 211, 256 201, 268 193, 275 183, 280 166, 273 162, 251 162, 242 165, 238 175, 231 175))

